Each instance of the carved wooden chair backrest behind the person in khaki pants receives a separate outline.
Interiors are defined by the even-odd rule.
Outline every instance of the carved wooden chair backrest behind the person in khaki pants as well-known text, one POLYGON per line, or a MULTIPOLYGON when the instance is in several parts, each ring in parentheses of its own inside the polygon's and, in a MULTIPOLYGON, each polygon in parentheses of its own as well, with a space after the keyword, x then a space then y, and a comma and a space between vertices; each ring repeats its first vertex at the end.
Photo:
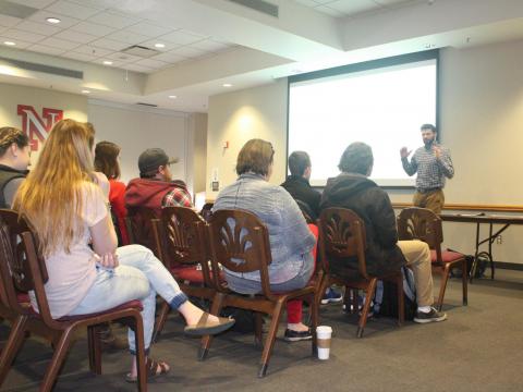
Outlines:
POLYGON ((329 259, 356 258, 362 277, 368 278, 365 264, 365 224, 352 210, 326 208, 318 220, 321 266, 329 272, 329 259))

